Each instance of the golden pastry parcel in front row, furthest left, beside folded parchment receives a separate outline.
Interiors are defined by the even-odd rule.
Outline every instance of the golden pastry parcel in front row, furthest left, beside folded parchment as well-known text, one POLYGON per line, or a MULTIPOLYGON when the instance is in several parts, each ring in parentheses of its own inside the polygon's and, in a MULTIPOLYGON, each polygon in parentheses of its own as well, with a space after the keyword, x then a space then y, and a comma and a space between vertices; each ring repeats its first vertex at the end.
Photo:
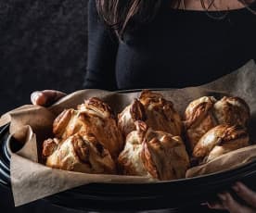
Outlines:
POLYGON ((64 169, 92 174, 115 174, 116 165, 109 151, 94 135, 76 133, 63 141, 45 140, 43 144, 45 165, 54 169, 64 169))

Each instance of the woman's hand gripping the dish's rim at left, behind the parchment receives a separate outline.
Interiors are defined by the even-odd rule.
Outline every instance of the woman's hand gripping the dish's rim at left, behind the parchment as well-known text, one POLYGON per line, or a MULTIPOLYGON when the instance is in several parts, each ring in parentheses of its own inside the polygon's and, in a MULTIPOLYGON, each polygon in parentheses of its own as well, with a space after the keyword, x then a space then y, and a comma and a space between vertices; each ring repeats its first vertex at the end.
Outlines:
POLYGON ((36 91, 31 95, 33 105, 48 107, 66 94, 56 90, 36 91))

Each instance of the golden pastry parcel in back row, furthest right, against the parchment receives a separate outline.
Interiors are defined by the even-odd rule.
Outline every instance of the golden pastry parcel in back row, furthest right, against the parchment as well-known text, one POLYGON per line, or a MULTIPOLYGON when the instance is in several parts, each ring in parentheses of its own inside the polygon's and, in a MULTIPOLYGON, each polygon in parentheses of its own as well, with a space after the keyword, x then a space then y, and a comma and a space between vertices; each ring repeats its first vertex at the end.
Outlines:
POLYGON ((217 101, 204 96, 191 102, 185 112, 186 136, 193 151, 203 134, 220 124, 246 126, 250 108, 239 97, 224 96, 217 101))

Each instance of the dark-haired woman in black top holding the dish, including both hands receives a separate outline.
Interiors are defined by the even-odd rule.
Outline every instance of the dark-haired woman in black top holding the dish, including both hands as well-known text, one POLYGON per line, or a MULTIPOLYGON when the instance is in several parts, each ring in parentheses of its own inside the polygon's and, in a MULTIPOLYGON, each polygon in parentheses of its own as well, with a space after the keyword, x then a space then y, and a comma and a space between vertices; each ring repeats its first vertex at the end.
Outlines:
MULTIPOLYGON (((246 0, 90 0, 85 88, 179 88, 213 81, 256 58, 256 3, 246 0)), ((35 92, 50 105, 65 94, 35 92)), ((256 193, 237 182, 215 209, 256 212, 256 193)))

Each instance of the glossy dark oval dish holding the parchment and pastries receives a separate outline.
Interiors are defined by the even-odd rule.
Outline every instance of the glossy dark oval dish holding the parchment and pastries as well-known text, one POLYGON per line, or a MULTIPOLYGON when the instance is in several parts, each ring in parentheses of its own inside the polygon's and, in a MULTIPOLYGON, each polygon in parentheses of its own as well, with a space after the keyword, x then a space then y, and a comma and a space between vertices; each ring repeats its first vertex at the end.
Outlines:
MULTIPOLYGON (((17 150, 8 134, 8 126, 0 131, 0 185, 10 187, 10 153, 17 150)), ((179 209, 200 204, 237 181, 256 189, 256 162, 246 166, 198 178, 143 184, 93 183, 83 185, 45 199, 62 207, 90 210, 179 209)))

